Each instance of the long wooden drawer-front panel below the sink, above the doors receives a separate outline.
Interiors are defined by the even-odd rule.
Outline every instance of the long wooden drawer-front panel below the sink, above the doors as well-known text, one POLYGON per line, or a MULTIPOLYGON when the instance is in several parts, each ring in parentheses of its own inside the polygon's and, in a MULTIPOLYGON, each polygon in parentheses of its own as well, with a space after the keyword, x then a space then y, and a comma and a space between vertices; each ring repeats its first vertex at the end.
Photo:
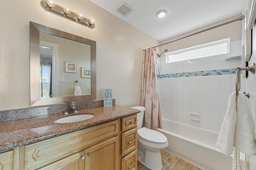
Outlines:
POLYGON ((35 169, 118 135, 118 120, 24 147, 24 169, 35 169))

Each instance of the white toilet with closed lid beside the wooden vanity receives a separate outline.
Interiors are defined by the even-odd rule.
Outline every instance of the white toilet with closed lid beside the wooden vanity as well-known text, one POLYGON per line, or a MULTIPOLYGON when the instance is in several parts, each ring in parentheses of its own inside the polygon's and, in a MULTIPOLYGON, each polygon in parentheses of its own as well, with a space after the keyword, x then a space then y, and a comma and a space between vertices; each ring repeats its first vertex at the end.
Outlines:
POLYGON ((140 110, 140 113, 137 114, 138 161, 151 170, 161 170, 163 164, 160 150, 168 147, 167 138, 158 131, 142 127, 145 107, 131 108, 140 110))

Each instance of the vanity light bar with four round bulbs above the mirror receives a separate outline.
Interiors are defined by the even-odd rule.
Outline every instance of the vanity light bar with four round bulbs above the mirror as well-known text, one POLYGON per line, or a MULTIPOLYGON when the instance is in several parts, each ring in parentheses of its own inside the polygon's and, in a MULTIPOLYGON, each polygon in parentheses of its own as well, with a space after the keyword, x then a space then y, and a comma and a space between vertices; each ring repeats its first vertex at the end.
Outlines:
POLYGON ((70 21, 79 23, 88 28, 91 28, 91 29, 95 28, 95 19, 94 18, 88 19, 84 17, 84 13, 82 12, 75 13, 67 6, 65 7, 59 6, 54 2, 54 0, 41 0, 40 3, 42 8, 44 8, 44 10, 46 10, 47 12, 66 18, 70 21))

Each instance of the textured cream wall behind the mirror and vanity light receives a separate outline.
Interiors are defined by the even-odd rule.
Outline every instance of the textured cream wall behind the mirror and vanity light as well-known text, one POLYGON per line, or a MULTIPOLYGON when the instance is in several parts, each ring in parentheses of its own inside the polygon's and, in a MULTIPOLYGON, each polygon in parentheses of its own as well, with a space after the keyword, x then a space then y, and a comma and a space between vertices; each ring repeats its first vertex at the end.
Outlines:
POLYGON ((140 105, 142 49, 159 42, 89 0, 56 4, 94 17, 96 27, 46 12, 40 0, 1 0, 0 110, 30 106, 29 21, 96 41, 97 100, 103 99, 103 88, 112 88, 116 104, 140 105))

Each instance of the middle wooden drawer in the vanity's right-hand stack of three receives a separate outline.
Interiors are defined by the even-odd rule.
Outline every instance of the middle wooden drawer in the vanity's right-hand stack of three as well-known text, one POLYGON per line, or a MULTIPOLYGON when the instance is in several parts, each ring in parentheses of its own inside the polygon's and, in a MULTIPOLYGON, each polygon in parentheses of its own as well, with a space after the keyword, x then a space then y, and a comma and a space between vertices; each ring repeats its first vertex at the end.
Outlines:
POLYGON ((122 156, 137 149, 137 128, 122 133, 122 156))

